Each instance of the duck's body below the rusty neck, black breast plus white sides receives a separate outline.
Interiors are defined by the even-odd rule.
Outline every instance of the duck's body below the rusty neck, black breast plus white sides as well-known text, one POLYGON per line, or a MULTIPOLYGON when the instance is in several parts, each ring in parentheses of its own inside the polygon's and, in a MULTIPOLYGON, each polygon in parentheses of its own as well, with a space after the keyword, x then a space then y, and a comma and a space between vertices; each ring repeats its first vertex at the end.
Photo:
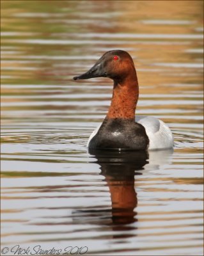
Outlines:
POLYGON ((132 122, 104 122, 92 132, 88 148, 163 150, 173 148, 173 134, 168 125, 153 116, 136 116, 132 122), (104 124, 105 122, 105 124, 104 124), (116 124, 116 126, 112 124, 116 124), (110 129, 111 126, 111 129, 110 129), (125 126, 125 128, 124 128, 125 126), (119 128, 120 127, 120 128, 119 128), (124 132, 125 131, 125 132, 124 132), (98 143, 103 141, 104 144, 98 143), (109 142, 107 142, 109 141, 109 142))

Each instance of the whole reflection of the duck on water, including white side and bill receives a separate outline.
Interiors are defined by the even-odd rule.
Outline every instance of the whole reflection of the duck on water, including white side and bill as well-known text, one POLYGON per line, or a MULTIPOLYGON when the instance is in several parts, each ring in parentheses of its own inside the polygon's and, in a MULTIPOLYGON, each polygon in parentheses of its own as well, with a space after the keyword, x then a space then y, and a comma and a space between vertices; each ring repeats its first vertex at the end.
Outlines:
POLYGON ((113 230, 134 229, 132 225, 125 224, 137 221, 135 179, 137 175, 171 164, 173 149, 150 152, 90 149, 89 154, 96 159, 94 163, 99 164, 100 175, 104 176, 109 188, 111 209, 107 209, 107 205, 84 207, 72 212, 73 220, 77 223, 112 226, 113 230))

